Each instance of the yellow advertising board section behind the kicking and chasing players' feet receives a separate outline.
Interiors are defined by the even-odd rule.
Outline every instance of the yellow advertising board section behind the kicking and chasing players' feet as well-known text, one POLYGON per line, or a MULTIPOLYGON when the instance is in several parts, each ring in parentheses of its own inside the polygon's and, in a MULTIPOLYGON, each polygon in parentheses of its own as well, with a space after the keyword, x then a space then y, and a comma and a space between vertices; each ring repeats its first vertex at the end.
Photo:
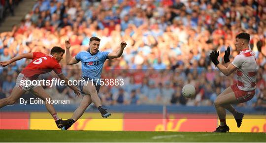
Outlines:
MULTIPOLYGON (((63 119, 70 118, 72 114, 58 113, 63 119)), ((31 113, 30 129, 59 130, 49 113, 31 113)), ((68 130, 122 131, 123 114, 113 113, 108 118, 102 118, 99 113, 84 113, 68 130)))

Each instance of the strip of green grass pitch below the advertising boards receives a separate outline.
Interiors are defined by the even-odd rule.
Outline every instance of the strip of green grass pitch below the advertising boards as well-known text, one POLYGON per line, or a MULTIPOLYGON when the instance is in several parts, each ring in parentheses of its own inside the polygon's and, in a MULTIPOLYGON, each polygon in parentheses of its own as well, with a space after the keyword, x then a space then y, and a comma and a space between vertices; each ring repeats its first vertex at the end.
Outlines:
POLYGON ((0 142, 266 142, 266 133, 0 130, 0 142))

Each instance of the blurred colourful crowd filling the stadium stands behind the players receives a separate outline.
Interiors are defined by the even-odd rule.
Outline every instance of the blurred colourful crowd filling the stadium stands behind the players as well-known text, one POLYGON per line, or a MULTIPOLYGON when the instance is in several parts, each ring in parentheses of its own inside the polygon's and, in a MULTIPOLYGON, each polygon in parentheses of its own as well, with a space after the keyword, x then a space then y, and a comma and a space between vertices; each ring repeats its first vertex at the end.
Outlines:
MULTIPOLYGON (((218 50, 223 57, 230 46, 232 61, 238 54, 234 37, 246 31, 258 63, 257 89, 252 100, 238 106, 266 107, 266 57, 258 52, 262 46, 266 55, 265 13, 265 0, 38 0, 19 26, 0 34, 0 60, 48 54, 53 46, 65 48, 66 39, 72 56, 86 51, 92 36, 101 39, 100 51, 115 50, 125 40, 122 57, 107 60, 101 77, 124 79, 124 86, 101 86, 104 105, 211 106, 236 75, 223 76, 209 53, 218 50), (195 98, 181 96, 186 84, 196 87, 195 98)), ((29 63, 22 59, 0 70, 0 98, 10 95, 18 71, 29 63)), ((79 79, 80 65, 61 65, 66 77, 79 79)), ((46 89, 53 98, 79 100, 66 86, 46 89)))

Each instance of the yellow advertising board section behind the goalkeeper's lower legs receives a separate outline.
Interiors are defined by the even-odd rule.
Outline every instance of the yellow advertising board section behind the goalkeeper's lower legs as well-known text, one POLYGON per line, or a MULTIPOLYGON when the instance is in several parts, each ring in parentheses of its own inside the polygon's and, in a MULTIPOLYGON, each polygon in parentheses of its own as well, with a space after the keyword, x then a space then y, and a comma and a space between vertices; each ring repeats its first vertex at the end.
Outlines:
MULTIPOLYGON (((237 128, 233 115, 227 115, 226 124, 229 126, 229 132, 265 132, 266 133, 266 115, 244 116, 240 128, 237 128)), ((220 121, 218 120, 218 124, 220 121)))

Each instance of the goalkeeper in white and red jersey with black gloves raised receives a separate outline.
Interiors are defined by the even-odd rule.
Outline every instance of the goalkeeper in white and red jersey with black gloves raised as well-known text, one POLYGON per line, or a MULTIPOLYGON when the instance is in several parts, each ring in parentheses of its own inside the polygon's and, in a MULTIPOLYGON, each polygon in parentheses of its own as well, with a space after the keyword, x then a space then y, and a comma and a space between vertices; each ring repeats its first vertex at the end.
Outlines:
MULTIPOLYGON (((248 47, 250 36, 242 32, 236 35, 234 45, 239 54, 234 57, 232 63, 225 67, 218 61, 219 52, 212 51, 210 58, 215 66, 226 76, 234 71, 237 74, 237 83, 226 88, 214 101, 214 106, 220 120, 220 126, 214 132, 229 132, 226 124, 226 110, 231 112, 239 128, 244 114, 237 112, 232 104, 247 102, 253 98, 256 89, 257 62, 255 54, 248 47)), ((224 61, 230 62, 230 48, 225 51, 224 61)))

